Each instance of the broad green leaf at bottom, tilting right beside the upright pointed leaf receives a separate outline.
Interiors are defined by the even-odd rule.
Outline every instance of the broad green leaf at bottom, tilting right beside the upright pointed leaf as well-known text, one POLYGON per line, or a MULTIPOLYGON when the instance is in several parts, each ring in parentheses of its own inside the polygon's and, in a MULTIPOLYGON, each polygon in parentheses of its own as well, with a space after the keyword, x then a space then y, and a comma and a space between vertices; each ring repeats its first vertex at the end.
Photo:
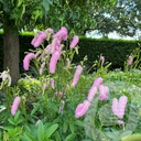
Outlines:
POLYGON ((58 128, 58 124, 55 123, 51 127, 48 127, 46 130, 45 130, 45 135, 46 135, 46 139, 48 139, 54 132, 55 130, 58 128))

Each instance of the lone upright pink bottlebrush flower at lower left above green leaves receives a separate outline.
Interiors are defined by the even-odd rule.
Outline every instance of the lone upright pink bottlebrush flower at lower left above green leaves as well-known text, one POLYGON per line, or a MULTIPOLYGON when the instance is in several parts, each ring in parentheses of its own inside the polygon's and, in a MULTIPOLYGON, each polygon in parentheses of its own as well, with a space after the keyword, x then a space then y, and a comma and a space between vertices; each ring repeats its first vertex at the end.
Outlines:
POLYGON ((15 97, 14 98, 13 105, 11 106, 11 115, 14 116, 17 113, 20 101, 21 101, 21 97, 15 97))

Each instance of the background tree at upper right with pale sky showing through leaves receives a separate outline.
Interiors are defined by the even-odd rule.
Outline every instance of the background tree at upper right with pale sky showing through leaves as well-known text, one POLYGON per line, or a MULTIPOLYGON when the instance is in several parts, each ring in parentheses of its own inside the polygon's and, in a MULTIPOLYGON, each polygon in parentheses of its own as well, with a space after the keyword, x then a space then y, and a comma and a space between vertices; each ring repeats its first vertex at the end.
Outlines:
MULTIPOLYGON (((141 30, 141 1, 117 0, 109 9, 105 7, 94 14, 97 22, 96 30, 107 36, 108 33, 117 31, 120 35, 134 36, 141 30)), ((138 35, 140 37, 141 34, 138 35)))

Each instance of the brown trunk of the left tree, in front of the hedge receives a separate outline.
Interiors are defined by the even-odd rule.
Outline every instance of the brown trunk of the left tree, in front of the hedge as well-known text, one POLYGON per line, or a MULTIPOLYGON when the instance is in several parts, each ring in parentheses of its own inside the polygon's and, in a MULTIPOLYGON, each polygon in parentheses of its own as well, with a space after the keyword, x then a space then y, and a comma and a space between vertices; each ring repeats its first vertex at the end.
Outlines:
POLYGON ((19 33, 13 21, 4 21, 3 25, 3 69, 10 69, 12 84, 19 79, 19 33))

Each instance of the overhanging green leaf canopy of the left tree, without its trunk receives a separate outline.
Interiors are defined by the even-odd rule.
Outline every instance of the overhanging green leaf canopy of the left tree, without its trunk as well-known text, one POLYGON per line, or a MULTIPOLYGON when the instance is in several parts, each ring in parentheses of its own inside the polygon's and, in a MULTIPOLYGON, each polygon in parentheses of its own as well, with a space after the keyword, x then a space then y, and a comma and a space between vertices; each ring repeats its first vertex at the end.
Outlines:
POLYGON ((19 30, 65 25, 79 33, 94 30, 96 9, 113 4, 115 0, 0 0, 0 22, 3 14, 13 20, 19 30))

